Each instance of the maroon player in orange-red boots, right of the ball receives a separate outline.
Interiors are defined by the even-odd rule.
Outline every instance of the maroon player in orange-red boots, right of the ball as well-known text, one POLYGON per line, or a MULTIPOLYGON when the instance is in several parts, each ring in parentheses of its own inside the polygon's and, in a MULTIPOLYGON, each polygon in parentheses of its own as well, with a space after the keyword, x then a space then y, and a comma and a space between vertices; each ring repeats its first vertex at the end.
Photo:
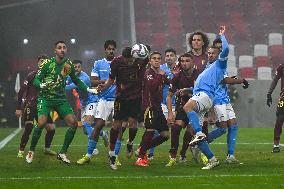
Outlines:
POLYGON ((161 103, 163 99, 163 87, 169 84, 165 72, 160 69, 162 62, 161 53, 154 51, 149 57, 150 68, 145 71, 142 89, 142 110, 144 112, 145 132, 142 137, 136 165, 146 167, 148 160, 146 152, 169 139, 169 128, 163 114, 161 103), (157 130, 159 136, 154 137, 157 130), (146 157, 145 157, 146 156, 146 157))

